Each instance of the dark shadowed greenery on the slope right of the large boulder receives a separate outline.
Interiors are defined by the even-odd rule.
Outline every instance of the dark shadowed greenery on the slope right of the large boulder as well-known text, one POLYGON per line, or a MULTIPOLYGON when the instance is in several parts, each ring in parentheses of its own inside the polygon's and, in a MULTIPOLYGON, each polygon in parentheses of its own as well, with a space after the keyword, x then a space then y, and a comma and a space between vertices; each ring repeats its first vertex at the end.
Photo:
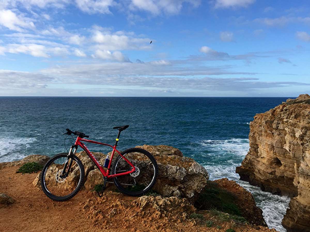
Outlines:
POLYGON ((225 213, 241 216, 241 211, 235 202, 235 195, 219 188, 217 183, 208 181, 206 187, 195 201, 194 206, 200 210, 215 208, 225 213))

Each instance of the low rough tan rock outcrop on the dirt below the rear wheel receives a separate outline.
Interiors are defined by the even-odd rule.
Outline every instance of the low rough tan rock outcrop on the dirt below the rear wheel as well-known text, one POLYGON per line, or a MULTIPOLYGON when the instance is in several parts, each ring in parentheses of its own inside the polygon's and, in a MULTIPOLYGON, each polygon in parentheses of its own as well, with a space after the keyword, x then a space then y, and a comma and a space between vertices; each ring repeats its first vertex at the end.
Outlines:
MULTIPOLYGON (((124 200, 120 193, 106 191, 104 195, 94 200, 86 200, 82 203, 82 209, 87 212, 89 218, 93 221, 100 221, 104 224, 113 220, 118 215, 126 215, 130 220, 125 220, 125 223, 131 224, 133 221, 143 221, 148 219, 150 226, 158 225, 151 223, 154 220, 171 222, 184 222, 189 219, 189 216, 196 212, 195 207, 185 198, 178 197, 162 197, 162 196, 141 196, 135 200, 124 200), (102 209, 105 210, 102 210, 102 209), (134 208, 134 210, 132 210, 134 208), (106 212, 109 212, 106 214, 106 212)), ((123 216, 122 216, 123 217, 123 216)), ((159 228, 156 230, 159 231, 159 228)), ((172 230, 171 230, 172 231, 172 230)))

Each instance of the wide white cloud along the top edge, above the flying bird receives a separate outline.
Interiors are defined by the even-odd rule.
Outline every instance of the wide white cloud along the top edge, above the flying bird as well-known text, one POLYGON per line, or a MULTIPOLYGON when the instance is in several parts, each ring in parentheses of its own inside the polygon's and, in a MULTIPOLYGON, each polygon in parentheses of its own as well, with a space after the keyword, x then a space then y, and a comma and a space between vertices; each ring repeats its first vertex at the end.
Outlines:
POLYGON ((193 7, 200 5, 200 0, 132 0, 131 8, 149 11, 154 15, 158 15, 161 12, 175 15, 181 11, 185 2, 191 4, 193 7))

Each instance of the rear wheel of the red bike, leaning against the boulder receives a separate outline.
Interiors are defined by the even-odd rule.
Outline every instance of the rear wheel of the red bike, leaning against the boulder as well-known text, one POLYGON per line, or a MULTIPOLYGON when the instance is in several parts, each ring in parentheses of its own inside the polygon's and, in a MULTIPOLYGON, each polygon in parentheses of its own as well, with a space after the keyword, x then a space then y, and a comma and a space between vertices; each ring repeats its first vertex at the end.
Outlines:
MULTIPOLYGON (((135 172, 113 178, 116 187, 126 195, 140 196, 152 189, 157 178, 157 162, 151 153, 141 148, 130 148, 122 152, 134 166, 135 172)), ((117 157, 113 173, 120 174, 132 169, 121 156, 117 157)))

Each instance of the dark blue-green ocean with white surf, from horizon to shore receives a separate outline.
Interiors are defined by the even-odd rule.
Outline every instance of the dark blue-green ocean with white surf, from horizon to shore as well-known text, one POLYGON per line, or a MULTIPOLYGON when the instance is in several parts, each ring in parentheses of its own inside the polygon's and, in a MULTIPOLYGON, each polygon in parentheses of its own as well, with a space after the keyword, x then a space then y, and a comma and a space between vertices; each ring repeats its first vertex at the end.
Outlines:
MULTIPOLYGON (((203 165, 210 179, 228 178, 250 191, 269 228, 281 220, 289 198, 240 181, 235 173, 249 149, 249 123, 288 97, 0 97, 0 162, 30 154, 65 152, 66 128, 113 144, 114 126, 129 124, 118 149, 165 144, 203 165)), ((71 140, 72 142, 72 140, 71 140)), ((109 152, 89 145, 94 152, 109 152)))

